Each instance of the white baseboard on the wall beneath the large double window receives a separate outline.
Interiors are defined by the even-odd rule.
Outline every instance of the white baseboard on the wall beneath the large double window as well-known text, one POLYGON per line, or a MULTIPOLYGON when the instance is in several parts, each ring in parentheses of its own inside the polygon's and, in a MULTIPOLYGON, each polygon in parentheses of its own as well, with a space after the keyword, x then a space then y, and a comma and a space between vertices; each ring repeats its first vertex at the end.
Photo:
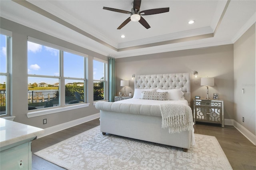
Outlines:
POLYGON ((47 136, 49 134, 53 134, 53 133, 58 132, 60 130, 64 130, 66 128, 74 127, 76 125, 80 125, 82 123, 92 121, 92 120, 97 119, 99 117, 100 117, 100 113, 96 113, 94 115, 90 115, 90 116, 87 116, 87 117, 76 119, 74 121, 70 121, 70 122, 62 123, 60 125, 56 125, 56 126, 53 126, 53 127, 45 128, 44 133, 37 136, 37 138, 42 138, 44 136, 47 136))

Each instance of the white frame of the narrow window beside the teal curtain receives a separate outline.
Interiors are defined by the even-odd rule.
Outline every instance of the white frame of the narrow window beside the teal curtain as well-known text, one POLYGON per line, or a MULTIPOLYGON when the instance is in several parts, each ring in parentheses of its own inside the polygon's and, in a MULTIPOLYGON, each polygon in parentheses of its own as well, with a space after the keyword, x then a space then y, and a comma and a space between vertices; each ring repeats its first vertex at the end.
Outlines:
MULTIPOLYGON (((98 80, 98 79, 93 79, 93 83, 95 81, 100 81, 100 82, 104 82, 104 99, 102 100, 94 100, 93 102, 96 103, 97 101, 108 101, 108 61, 103 60, 103 59, 99 59, 96 57, 93 57, 93 60, 99 61, 104 63, 104 80, 98 80)), ((94 69, 94 68, 93 68, 94 69)))

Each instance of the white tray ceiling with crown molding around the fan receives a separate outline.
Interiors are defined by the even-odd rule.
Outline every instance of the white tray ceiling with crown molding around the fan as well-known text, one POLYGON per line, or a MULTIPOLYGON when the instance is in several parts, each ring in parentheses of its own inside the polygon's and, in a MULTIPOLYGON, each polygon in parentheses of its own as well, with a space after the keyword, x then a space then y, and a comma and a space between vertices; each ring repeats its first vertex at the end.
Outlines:
POLYGON ((117 30, 130 15, 102 8, 130 11, 132 2, 1 0, 0 16, 115 58, 234 43, 256 22, 255 0, 142 0, 141 11, 170 12, 143 16, 148 30, 132 21, 117 30))

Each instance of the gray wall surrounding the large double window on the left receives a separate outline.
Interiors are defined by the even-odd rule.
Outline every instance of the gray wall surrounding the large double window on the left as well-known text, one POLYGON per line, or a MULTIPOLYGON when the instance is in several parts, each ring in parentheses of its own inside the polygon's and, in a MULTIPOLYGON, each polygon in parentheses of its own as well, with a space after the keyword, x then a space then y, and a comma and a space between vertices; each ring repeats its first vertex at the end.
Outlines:
MULTIPOLYGON (((16 118, 14 121, 32 125, 40 128, 52 127, 61 123, 66 123, 89 115, 99 113, 93 106, 93 57, 98 57, 108 61, 108 57, 79 47, 72 43, 65 42, 58 38, 54 38, 42 32, 38 32, 31 28, 22 26, 15 22, 11 22, 4 18, 0 18, 0 26, 2 29, 12 32, 12 61, 11 61, 11 91, 12 99, 10 101, 12 115, 16 118), (89 55, 88 57, 88 93, 87 103, 89 107, 64 111, 50 115, 28 118, 28 67, 27 67, 27 36, 37 38, 46 42, 50 42, 62 47, 66 47, 81 53, 89 55), (47 119, 47 124, 43 125, 42 120, 47 119)), ((86 43, 86 42, 85 42, 86 43)))

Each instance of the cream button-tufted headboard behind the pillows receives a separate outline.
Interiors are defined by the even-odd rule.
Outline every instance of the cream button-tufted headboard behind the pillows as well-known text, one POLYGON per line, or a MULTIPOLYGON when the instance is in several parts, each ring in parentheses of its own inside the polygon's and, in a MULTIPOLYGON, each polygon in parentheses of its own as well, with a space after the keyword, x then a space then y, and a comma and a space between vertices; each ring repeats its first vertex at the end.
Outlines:
POLYGON ((134 89, 181 89, 190 106, 190 73, 136 75, 134 89))

